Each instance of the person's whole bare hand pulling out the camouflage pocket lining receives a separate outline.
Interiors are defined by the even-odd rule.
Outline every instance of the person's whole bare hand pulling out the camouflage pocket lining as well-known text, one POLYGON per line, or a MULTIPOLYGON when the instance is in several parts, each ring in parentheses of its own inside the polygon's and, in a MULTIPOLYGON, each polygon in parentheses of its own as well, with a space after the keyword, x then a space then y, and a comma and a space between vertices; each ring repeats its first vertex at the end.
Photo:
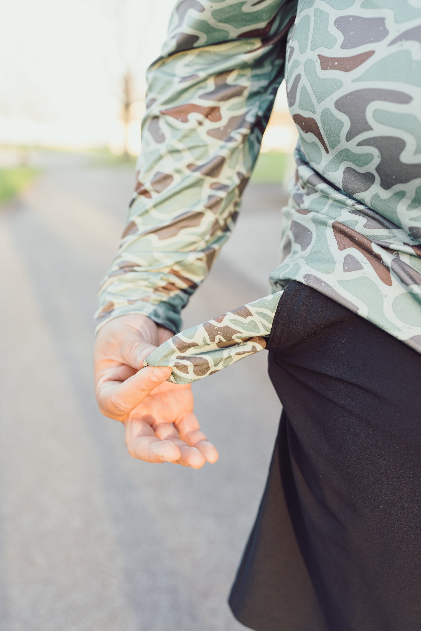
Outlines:
POLYGON ((124 423, 131 456, 199 469, 205 461, 215 463, 218 452, 194 415, 191 384, 167 382, 170 368, 143 368, 143 360, 172 335, 146 315, 107 322, 95 341, 95 394, 102 414, 124 423))

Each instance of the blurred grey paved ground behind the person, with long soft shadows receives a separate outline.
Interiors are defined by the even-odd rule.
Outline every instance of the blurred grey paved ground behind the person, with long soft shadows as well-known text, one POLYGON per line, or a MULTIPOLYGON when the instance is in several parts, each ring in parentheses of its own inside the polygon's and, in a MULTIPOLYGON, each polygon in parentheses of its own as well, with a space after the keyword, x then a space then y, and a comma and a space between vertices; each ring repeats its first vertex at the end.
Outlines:
MULTIPOLYGON (((97 411, 91 355, 133 172, 78 155, 37 161, 44 174, 0 211, 0 630, 244 628, 226 599, 280 413, 266 352, 194 386, 215 466, 131 459, 121 426, 97 411)), ((266 293, 280 194, 250 187, 186 326, 266 293)))

